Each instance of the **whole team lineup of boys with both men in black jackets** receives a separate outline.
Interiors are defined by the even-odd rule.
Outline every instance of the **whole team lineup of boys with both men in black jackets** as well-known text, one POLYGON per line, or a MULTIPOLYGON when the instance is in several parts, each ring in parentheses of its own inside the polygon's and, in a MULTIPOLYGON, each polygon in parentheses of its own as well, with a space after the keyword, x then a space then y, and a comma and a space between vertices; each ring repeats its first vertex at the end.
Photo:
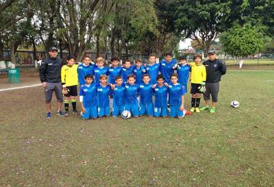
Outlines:
POLYGON ((51 47, 49 58, 43 60, 39 68, 40 81, 45 88, 47 119, 53 116, 53 92, 58 103, 58 116, 69 116, 71 103, 73 114, 81 115, 84 120, 110 115, 124 119, 130 116, 181 119, 200 110, 216 112, 219 82, 221 75, 226 73, 225 63, 216 59, 216 51, 209 51, 205 62, 199 53, 194 55, 194 62, 189 63, 185 55, 176 60, 171 52, 166 53, 159 63, 156 58, 151 54, 148 64, 137 59, 135 64, 124 60, 119 66, 120 59, 112 56, 107 67, 101 57, 95 64, 85 55, 82 62, 77 63, 75 56, 69 55, 63 65, 58 58, 58 49, 51 47), (190 91, 187 90, 188 82, 190 91), (184 108, 184 95, 188 92, 192 95, 189 111, 184 108), (77 111, 78 95, 81 112, 77 111), (206 105, 199 108, 202 95, 206 105), (65 112, 61 110, 62 103, 65 112))

